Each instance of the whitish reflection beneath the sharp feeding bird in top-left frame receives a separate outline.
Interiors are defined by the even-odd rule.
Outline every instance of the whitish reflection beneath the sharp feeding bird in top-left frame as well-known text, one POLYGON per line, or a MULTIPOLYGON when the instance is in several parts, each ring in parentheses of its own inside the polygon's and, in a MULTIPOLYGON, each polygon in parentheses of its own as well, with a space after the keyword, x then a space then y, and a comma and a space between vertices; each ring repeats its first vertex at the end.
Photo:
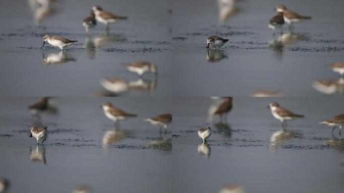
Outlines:
POLYGON ((42 63, 45 66, 49 66, 50 64, 63 64, 67 62, 76 62, 76 58, 74 58, 71 54, 67 52, 56 52, 56 53, 49 53, 47 57, 45 57, 44 53, 42 53, 43 60, 42 63))

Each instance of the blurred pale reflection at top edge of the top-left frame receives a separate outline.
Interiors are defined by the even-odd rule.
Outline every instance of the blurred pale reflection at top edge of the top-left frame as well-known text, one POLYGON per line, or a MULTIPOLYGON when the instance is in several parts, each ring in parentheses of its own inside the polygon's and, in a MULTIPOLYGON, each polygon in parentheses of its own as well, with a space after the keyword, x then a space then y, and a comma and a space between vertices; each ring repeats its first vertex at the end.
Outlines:
POLYGON ((39 25, 45 18, 52 16, 56 10, 52 7, 52 3, 56 0, 28 0, 31 10, 34 14, 35 25, 39 25))

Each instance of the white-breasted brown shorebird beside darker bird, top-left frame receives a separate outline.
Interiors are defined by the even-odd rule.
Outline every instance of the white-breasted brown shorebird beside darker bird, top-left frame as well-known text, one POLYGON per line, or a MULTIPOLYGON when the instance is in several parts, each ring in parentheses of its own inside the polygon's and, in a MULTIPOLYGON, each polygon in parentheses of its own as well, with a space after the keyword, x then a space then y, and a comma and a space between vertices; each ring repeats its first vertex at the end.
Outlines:
POLYGON ((105 24, 106 31, 109 31, 109 23, 115 23, 121 20, 126 20, 127 17, 116 16, 110 12, 104 11, 100 6, 92 7, 93 12, 96 15, 96 20, 105 24))

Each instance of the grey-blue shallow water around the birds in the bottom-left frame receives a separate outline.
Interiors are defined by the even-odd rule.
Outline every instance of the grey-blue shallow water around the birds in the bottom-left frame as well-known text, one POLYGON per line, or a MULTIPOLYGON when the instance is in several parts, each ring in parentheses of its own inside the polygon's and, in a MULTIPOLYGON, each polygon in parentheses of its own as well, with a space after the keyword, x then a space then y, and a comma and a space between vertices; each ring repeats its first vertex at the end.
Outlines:
POLYGON ((159 134, 142 121, 168 113, 169 100, 58 98, 40 121, 27 110, 37 100, 0 102, 0 176, 10 180, 8 192, 71 192, 81 184, 95 192, 173 192, 171 127, 159 134), (138 117, 115 130, 99 107, 106 101, 138 117), (49 126, 44 145, 29 137, 31 125, 49 126))

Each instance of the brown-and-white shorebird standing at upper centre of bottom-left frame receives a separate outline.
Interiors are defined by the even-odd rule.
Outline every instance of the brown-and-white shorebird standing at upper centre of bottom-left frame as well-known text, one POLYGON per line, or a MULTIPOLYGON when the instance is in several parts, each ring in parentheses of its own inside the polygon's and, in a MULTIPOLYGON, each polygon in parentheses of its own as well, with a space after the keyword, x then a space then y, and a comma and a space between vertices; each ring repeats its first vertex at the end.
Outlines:
POLYGON ((116 127, 116 123, 118 123, 118 121, 120 120, 126 120, 130 117, 136 117, 135 114, 127 113, 119 108, 112 106, 110 102, 103 103, 102 107, 103 107, 105 116, 114 121, 115 127, 116 127))

